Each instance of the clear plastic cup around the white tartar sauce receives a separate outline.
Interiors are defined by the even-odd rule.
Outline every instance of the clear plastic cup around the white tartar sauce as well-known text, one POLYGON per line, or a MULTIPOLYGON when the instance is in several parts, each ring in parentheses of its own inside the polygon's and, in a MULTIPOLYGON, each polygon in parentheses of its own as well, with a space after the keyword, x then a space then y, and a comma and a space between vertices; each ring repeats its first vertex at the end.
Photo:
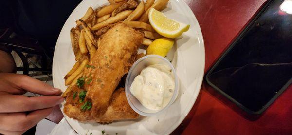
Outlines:
POLYGON ((178 88, 179 88, 178 77, 176 75, 173 65, 166 58, 161 57, 159 55, 147 55, 138 59, 128 72, 128 75, 126 78, 126 86, 125 86, 126 97, 127 97, 129 105, 135 112, 137 112, 138 114, 142 116, 155 116, 155 115, 161 114, 175 101, 176 97, 178 96, 178 88), (134 78, 138 76, 143 69, 154 64, 164 64, 170 67, 172 69, 172 73, 174 74, 174 79, 175 79, 174 93, 169 103, 161 110, 147 109, 130 92, 130 87, 131 87, 132 82, 134 81, 134 78))

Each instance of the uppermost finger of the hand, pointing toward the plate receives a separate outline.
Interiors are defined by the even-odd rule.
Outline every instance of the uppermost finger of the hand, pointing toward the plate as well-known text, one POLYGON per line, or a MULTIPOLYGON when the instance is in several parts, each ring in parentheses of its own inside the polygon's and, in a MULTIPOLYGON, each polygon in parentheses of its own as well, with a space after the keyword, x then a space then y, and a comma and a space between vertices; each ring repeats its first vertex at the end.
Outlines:
POLYGON ((26 75, 11 73, 0 74, 2 78, 17 86, 18 89, 23 89, 41 95, 60 95, 62 93, 60 89, 53 88, 52 86, 40 80, 34 79, 26 75))

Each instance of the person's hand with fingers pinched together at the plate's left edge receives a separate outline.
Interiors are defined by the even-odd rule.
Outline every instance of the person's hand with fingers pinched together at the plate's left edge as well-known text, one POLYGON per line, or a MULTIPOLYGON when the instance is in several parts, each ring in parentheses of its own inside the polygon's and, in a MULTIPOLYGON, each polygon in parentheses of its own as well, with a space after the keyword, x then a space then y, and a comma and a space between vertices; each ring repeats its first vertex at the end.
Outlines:
POLYGON ((61 90, 26 75, 0 73, 0 133, 20 135, 63 102, 61 90), (40 97, 27 97, 27 91, 40 97))

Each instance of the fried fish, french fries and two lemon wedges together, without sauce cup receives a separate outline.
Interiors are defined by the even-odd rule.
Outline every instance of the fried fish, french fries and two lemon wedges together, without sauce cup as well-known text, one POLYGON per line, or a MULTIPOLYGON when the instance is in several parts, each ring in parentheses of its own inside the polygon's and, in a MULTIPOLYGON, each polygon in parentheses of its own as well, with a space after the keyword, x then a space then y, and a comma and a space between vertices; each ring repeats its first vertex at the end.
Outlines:
POLYGON ((124 85, 133 63, 145 56, 137 54, 139 47, 148 47, 147 55, 165 57, 174 38, 189 29, 159 12, 169 0, 108 1, 96 9, 89 7, 70 31, 76 62, 64 77, 68 87, 62 95, 63 111, 78 121, 137 119, 124 85))

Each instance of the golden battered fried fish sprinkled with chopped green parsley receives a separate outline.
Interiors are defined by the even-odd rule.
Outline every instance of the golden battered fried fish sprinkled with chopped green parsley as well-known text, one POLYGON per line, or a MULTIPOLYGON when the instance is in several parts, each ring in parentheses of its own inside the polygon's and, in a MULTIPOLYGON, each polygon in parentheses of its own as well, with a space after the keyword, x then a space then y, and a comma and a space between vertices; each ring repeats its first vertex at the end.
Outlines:
POLYGON ((137 117, 122 90, 114 95, 113 92, 133 64, 143 37, 143 33, 124 23, 116 24, 105 33, 98 50, 84 70, 84 86, 80 86, 80 83, 74 86, 66 97, 64 112, 67 116, 79 121, 96 122, 137 117), (86 93, 82 100, 81 93, 86 93))

